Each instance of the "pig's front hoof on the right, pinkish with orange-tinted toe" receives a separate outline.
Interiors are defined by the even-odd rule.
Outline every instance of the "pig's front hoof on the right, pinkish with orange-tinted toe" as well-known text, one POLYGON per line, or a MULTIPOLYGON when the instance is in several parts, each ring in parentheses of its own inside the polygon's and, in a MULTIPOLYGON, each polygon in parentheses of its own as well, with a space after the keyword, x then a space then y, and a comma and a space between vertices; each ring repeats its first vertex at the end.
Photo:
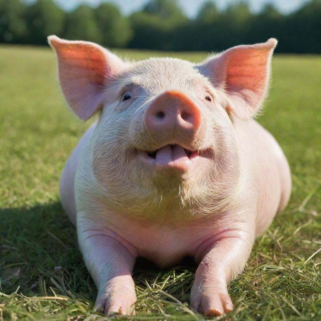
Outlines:
POLYGON ((221 316, 233 310, 233 303, 227 293, 213 290, 204 291, 195 299, 191 299, 192 307, 208 317, 221 316))

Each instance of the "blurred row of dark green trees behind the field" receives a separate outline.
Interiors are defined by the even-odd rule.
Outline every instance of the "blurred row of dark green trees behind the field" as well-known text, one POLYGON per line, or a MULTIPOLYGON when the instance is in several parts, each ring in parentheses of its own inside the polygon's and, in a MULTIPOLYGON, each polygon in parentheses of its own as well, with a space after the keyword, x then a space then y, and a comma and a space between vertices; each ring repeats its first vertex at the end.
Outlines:
POLYGON ((0 0, 1 43, 45 45, 50 34, 111 48, 173 51, 220 51, 275 37, 278 52, 321 53, 321 0, 311 0, 287 15, 272 4, 253 13, 246 1, 223 11, 208 1, 195 19, 189 19, 176 0, 151 0, 130 16, 108 2, 65 12, 53 0, 32 4, 0 0))

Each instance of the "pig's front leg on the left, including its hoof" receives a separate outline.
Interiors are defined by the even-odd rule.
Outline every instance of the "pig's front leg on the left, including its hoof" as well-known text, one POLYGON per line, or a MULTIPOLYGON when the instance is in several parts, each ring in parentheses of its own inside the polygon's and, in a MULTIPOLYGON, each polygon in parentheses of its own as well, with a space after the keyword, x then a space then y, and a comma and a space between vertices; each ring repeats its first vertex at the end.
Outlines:
POLYGON ((77 222, 83 259, 98 288, 95 310, 129 315, 136 302, 132 270, 136 250, 110 230, 77 222))

